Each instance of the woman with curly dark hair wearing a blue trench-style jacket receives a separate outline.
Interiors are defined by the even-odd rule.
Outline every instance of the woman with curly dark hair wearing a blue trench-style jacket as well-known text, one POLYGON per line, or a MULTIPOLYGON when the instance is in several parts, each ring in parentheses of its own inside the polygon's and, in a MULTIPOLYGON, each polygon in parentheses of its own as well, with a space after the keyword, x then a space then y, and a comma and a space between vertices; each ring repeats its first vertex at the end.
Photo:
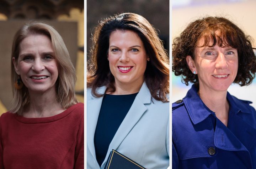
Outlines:
POLYGON ((174 169, 256 168, 256 111, 227 92, 251 84, 256 57, 250 36, 223 17, 188 25, 172 47, 172 71, 186 85, 172 104, 174 169))

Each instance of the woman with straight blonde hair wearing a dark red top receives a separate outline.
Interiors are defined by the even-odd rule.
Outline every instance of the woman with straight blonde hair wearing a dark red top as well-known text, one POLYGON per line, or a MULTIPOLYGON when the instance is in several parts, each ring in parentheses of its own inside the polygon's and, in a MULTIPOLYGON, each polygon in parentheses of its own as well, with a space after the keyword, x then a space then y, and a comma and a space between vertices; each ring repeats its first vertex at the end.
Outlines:
POLYGON ((30 22, 15 34, 14 99, 0 117, 0 168, 84 168, 84 104, 75 98, 75 69, 62 37, 30 22))

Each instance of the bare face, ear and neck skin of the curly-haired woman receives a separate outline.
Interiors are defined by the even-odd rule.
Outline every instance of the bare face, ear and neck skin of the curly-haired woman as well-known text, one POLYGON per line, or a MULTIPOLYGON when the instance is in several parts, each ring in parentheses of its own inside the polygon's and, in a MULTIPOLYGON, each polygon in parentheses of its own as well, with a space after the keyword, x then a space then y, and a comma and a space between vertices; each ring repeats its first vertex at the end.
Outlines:
MULTIPOLYGON (((202 46, 199 40, 197 46, 202 46)), ((199 80, 199 97, 225 126, 228 125, 229 103, 226 100, 228 87, 238 72, 238 52, 229 46, 196 47, 195 59, 187 56, 190 70, 196 71, 199 80), (210 96, 210 97, 209 97, 210 96)))

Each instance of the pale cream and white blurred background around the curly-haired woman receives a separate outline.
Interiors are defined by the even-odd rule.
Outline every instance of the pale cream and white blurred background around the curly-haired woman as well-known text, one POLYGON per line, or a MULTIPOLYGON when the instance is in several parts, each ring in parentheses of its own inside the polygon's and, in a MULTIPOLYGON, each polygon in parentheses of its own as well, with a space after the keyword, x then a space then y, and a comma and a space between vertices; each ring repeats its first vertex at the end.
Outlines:
MULTIPOLYGON (((172 0, 172 40, 196 19, 221 16, 250 35, 254 39, 253 47, 256 47, 255 7, 255 0, 172 0)), ((172 103, 185 97, 190 87, 191 84, 186 86, 180 77, 172 74, 172 103)), ((256 80, 249 86, 240 87, 238 84, 232 84, 228 91, 239 99, 252 101, 251 105, 256 108, 256 80)))

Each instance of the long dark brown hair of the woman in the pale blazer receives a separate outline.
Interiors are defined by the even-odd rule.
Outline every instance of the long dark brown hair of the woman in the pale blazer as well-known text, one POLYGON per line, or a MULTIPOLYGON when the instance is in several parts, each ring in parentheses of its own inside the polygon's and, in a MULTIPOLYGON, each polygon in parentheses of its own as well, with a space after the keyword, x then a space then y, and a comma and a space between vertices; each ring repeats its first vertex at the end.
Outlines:
POLYGON ((143 42, 147 56, 144 80, 151 96, 156 100, 167 101, 169 93, 169 58, 162 41, 153 26, 142 16, 135 13, 122 13, 101 21, 92 37, 91 60, 87 65, 87 87, 92 94, 101 97, 96 89, 107 86, 109 92, 116 90, 114 76, 110 71, 107 53, 110 35, 115 30, 131 30, 138 34, 143 42))

